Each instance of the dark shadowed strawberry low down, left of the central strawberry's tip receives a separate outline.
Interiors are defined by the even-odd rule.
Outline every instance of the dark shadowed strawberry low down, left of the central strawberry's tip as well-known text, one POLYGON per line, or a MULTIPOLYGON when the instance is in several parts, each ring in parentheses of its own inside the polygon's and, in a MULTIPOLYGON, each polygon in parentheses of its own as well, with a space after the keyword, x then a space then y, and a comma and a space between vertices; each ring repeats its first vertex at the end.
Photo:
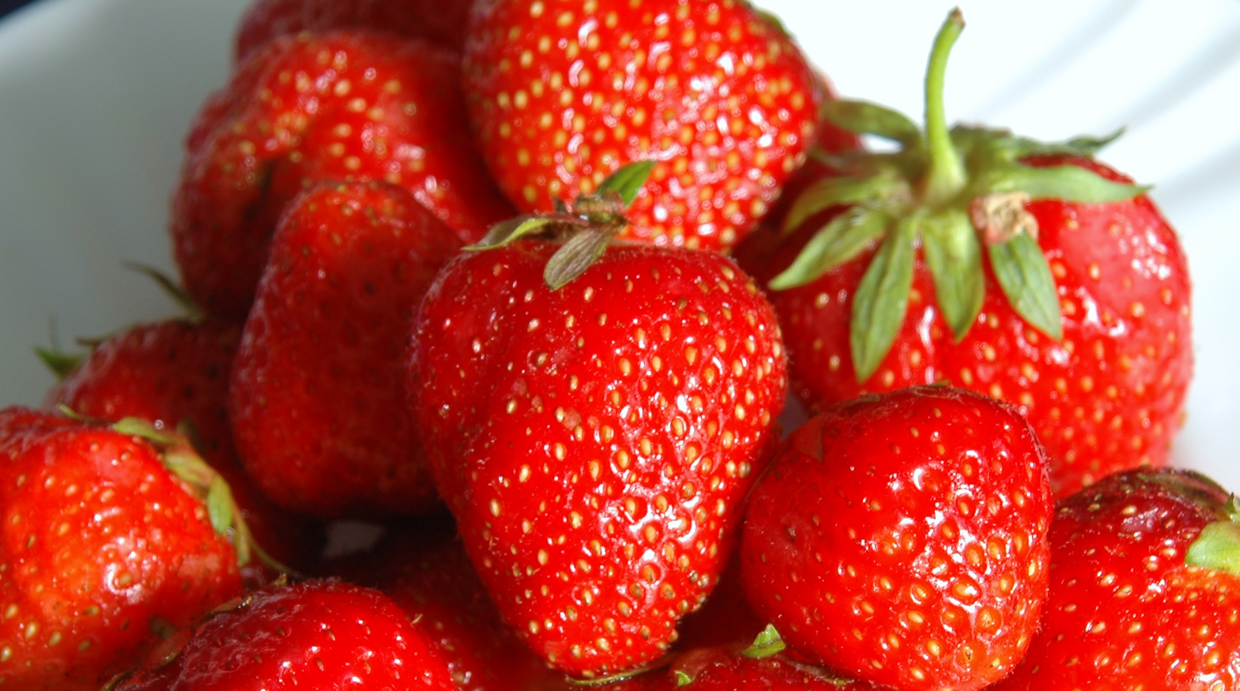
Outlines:
MULTIPOLYGON (((448 662, 461 691, 563 686, 542 660, 500 622, 455 527, 418 525, 389 535, 368 563, 368 583, 392 598, 448 662), (438 532, 438 535, 435 535, 438 532)), ((563 677, 560 677, 562 680, 563 677)))

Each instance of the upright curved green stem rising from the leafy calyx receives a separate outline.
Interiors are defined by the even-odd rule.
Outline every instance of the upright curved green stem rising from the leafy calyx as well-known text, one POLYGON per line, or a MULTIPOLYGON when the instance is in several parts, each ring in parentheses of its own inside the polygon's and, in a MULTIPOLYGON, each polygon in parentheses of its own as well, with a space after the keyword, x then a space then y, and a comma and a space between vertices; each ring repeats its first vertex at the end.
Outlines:
POLYGON ((923 194, 931 206, 949 202, 967 182, 965 163, 951 143, 942 98, 947 56, 963 29, 965 15, 956 7, 947 15, 947 21, 934 40, 930 66, 926 68, 926 144, 930 149, 930 170, 926 171, 923 194))

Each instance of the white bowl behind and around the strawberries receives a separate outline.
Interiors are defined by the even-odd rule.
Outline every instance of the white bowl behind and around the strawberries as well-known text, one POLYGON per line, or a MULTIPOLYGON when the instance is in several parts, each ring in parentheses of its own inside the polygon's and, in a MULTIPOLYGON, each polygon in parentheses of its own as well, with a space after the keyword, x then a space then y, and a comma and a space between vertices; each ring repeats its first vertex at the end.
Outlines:
MULTIPOLYGON (((920 118, 925 0, 765 0, 851 97, 920 118)), ((228 74, 247 0, 43 0, 0 24, 0 404, 38 403, 31 346, 172 313, 138 261, 172 270, 181 139, 228 74)), ((1240 2, 963 0, 954 118, 1044 139, 1128 124, 1104 154, 1157 185, 1195 279, 1197 381, 1176 463, 1240 488, 1240 2), (1034 9, 1035 7, 1035 9, 1034 9)))

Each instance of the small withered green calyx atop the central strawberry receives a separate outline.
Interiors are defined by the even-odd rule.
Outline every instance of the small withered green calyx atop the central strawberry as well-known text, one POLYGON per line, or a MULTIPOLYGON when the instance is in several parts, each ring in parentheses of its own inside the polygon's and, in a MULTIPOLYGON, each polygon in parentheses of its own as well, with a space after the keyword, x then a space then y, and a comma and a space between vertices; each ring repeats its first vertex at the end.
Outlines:
POLYGON ((653 169, 655 161, 622 166, 594 194, 577 197, 572 205, 557 200, 554 213, 518 216, 496 223, 477 244, 465 249, 495 249, 523 237, 560 238, 564 244, 543 269, 547 285, 559 290, 598 262, 611 241, 629 226, 625 212, 653 169))

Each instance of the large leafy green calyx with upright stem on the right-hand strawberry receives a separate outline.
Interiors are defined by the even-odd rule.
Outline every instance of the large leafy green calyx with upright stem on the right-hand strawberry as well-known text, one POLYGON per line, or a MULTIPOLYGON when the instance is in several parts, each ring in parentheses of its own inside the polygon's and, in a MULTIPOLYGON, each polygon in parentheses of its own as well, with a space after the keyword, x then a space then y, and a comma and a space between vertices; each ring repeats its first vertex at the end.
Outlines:
POLYGON ((949 129, 944 81, 947 57, 963 27, 963 16, 954 10, 935 38, 926 72, 924 132, 901 113, 873 103, 827 104, 826 117, 836 125, 888 139, 900 150, 820 156, 841 175, 806 189, 784 222, 784 232, 790 233, 823 211, 843 207, 770 282, 774 290, 811 283, 877 243, 852 306, 852 360, 859 382, 874 375, 904 323, 918 248, 957 341, 982 309, 983 262, 990 263, 1012 308, 1058 341, 1063 336, 1059 295, 1038 244, 1038 222, 1025 205, 1037 200, 1117 202, 1148 190, 1075 165, 1022 163, 1033 155, 1091 156, 1120 133, 1044 144, 1002 130, 949 129))

